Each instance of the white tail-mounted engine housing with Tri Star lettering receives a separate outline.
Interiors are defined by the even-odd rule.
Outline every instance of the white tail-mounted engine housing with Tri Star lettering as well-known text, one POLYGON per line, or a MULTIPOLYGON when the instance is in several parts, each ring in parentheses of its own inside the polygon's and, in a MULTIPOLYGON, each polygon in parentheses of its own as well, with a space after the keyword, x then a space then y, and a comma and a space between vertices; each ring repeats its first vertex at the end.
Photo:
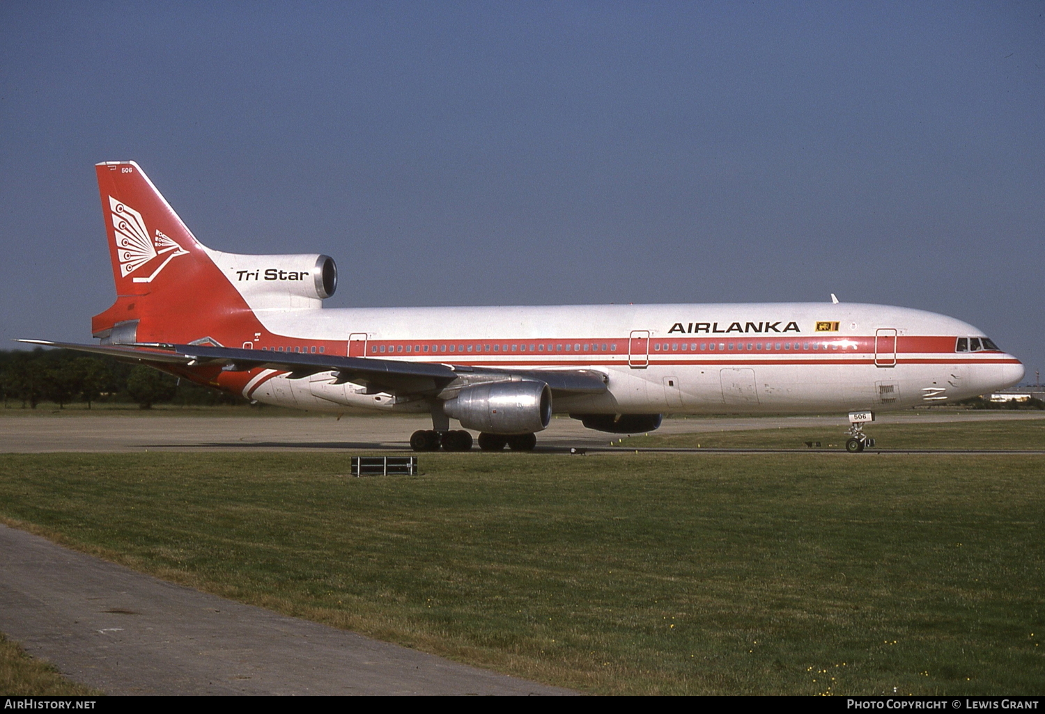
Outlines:
POLYGON ((207 254, 254 310, 318 308, 338 288, 338 266, 329 256, 207 254))

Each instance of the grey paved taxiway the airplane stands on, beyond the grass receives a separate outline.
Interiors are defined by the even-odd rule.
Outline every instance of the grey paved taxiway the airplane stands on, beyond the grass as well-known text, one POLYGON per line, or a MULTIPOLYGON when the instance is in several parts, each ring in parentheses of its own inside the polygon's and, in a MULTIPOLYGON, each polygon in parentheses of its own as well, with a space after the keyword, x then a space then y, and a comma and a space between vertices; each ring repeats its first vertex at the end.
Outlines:
MULTIPOLYGON (((410 435, 431 428, 426 416, 206 416, 124 412, 122 414, 0 416, 0 453, 52 451, 254 451, 254 450, 349 450, 408 449, 410 435)), ((1041 411, 904 411, 879 416, 876 424, 953 421, 1043 419, 1041 411)), ((666 419, 658 434, 771 429, 776 427, 837 426, 845 416, 715 416, 666 419)), ((873 425, 867 431, 874 433, 873 425)), ((537 435, 538 449, 609 445, 611 434, 585 429, 572 419, 552 420, 537 435)))

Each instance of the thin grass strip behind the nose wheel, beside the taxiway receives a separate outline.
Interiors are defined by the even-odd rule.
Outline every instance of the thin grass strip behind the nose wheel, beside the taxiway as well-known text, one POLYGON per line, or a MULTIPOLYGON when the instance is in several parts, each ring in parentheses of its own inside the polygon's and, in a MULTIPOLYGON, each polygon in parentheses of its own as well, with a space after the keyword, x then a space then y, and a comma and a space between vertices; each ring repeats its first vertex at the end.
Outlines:
MULTIPOLYGON (((892 449, 1045 449, 1045 419, 944 422, 937 424, 878 424, 864 426, 877 439, 876 448, 892 449)), ((822 449, 844 449, 847 427, 802 427, 747 431, 701 431, 687 434, 637 435, 620 438, 628 449, 797 449, 820 442, 822 449)))

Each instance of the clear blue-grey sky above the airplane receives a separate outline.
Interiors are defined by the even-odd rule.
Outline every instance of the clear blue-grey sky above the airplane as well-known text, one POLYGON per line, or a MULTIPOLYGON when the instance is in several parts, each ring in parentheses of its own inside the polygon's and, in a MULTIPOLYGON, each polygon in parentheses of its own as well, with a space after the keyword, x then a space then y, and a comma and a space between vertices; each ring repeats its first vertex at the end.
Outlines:
POLYGON ((0 4, 0 343, 90 341, 93 164, 331 306, 842 301, 1045 367, 1045 3, 0 4))

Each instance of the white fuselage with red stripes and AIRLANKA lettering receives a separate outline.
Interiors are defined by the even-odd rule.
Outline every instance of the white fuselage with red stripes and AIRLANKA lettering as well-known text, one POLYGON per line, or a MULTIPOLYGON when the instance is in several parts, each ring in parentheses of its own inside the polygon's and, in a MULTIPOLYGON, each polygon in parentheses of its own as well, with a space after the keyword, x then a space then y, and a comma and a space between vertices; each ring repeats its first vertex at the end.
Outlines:
MULTIPOLYGON (((256 350, 308 350, 315 340, 350 356, 607 376, 605 394, 559 397, 557 412, 882 411, 974 397, 1023 376, 1019 360, 1003 352, 958 352, 957 338, 984 337, 967 323, 878 305, 256 306, 255 314, 288 338, 259 339, 256 350)), ((429 409, 409 397, 332 382, 331 373, 287 379, 265 371, 243 394, 306 409, 429 409)))

